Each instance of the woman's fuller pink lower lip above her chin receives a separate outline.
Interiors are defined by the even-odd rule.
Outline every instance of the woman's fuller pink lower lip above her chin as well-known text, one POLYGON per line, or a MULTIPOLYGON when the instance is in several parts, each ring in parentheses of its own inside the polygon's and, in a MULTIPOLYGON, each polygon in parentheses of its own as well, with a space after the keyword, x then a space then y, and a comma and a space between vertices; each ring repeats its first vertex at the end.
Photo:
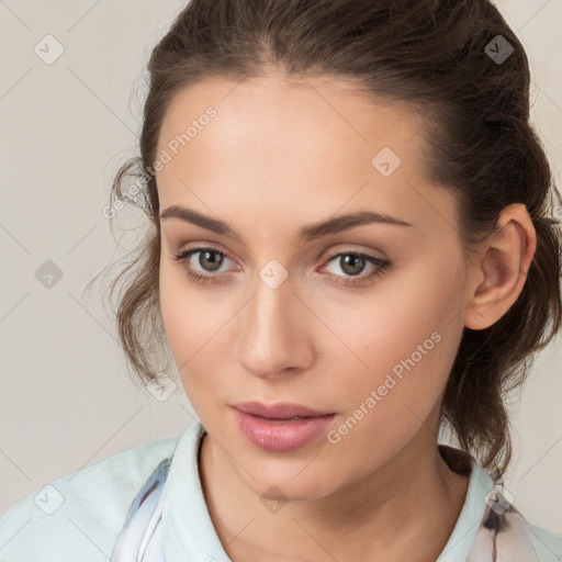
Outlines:
POLYGON ((277 422, 233 408, 240 431, 250 443, 265 451, 293 451, 325 435, 335 414, 277 422))

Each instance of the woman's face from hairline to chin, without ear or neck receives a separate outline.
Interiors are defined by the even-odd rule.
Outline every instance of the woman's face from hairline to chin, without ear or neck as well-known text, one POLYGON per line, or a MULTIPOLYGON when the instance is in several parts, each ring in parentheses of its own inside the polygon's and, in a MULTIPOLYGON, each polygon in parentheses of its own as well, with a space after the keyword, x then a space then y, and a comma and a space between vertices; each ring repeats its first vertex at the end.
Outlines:
POLYGON ((422 126, 344 81, 276 75, 207 80, 167 111, 164 324, 216 462, 257 494, 324 497, 436 439, 469 293, 422 126))

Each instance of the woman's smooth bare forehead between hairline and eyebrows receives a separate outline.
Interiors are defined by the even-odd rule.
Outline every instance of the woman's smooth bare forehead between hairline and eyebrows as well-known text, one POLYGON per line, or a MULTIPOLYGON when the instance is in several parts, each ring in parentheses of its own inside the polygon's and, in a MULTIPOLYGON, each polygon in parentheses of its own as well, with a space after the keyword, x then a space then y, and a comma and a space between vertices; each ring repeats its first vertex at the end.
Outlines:
POLYGON ((220 215, 237 209, 240 221, 274 209, 279 226, 370 206, 414 222, 439 206, 420 205, 434 196, 422 195, 423 124, 405 103, 341 79, 209 79, 179 92, 166 112, 158 155, 170 158, 157 175, 160 206, 220 215), (381 158, 396 166, 392 175, 376 169, 381 158))

